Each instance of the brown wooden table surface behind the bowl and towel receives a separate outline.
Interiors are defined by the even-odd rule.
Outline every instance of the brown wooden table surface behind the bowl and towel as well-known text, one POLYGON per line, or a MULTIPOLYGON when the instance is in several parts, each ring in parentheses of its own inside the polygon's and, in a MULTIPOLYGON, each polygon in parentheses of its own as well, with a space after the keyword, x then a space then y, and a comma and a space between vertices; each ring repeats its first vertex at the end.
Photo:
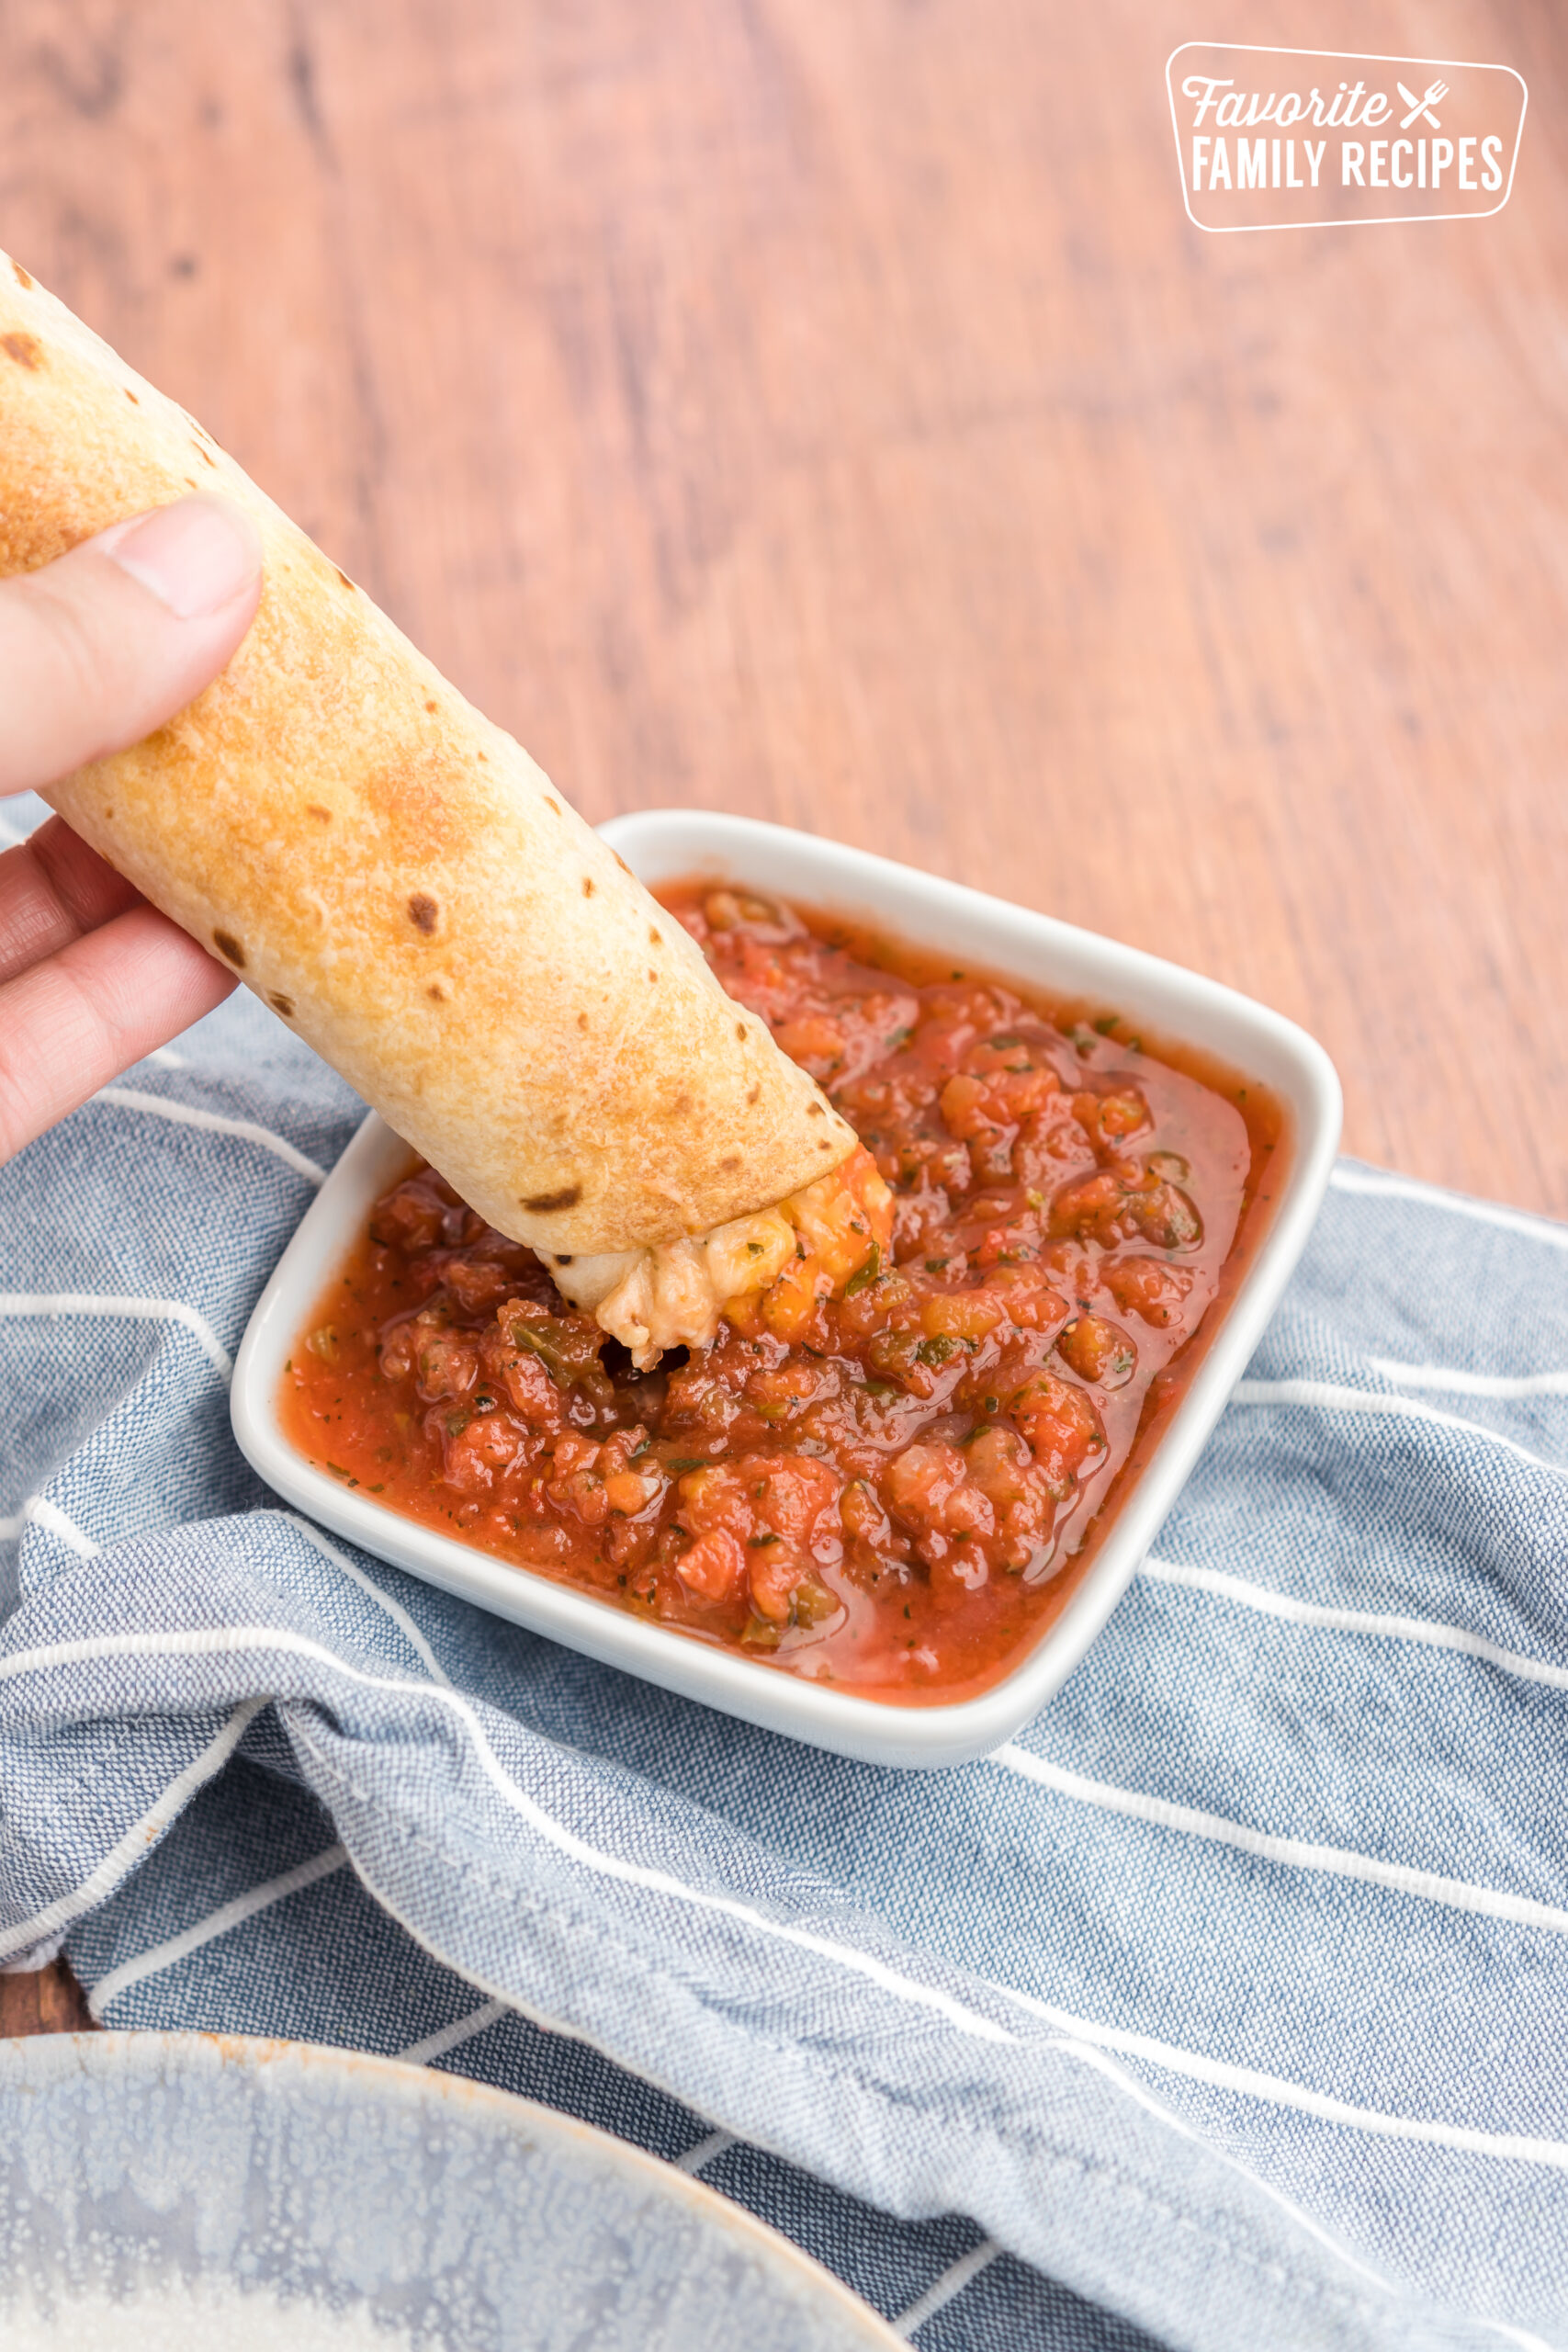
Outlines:
POLYGON ((1509 207, 1201 235, 1187 0, 12 0, 0 242, 588 816, 1154 948, 1563 1216, 1568 31, 1307 16, 1516 66, 1509 207))

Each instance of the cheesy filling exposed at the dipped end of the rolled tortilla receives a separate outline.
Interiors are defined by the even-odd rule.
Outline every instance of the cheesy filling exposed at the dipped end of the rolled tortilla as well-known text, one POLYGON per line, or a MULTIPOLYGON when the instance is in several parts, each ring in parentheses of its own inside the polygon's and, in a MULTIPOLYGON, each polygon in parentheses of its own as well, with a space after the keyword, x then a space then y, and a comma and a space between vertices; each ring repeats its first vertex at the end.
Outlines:
POLYGON ((541 1256, 571 1305, 649 1371, 665 1348, 705 1348, 722 1315, 788 1343, 804 1338, 823 1298, 839 1298, 889 1261, 891 1232, 893 1195, 860 1145, 773 1209, 708 1235, 590 1258, 541 1256))

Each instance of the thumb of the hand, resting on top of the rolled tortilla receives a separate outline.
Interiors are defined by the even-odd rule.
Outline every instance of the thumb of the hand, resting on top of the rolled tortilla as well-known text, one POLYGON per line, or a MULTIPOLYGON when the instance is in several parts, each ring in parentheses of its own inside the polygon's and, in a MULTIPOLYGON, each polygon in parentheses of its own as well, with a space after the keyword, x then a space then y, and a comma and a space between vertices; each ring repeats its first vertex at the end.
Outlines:
POLYGON ((0 581, 0 793, 162 727, 230 659, 259 595, 256 529, 221 499, 115 522, 0 581))

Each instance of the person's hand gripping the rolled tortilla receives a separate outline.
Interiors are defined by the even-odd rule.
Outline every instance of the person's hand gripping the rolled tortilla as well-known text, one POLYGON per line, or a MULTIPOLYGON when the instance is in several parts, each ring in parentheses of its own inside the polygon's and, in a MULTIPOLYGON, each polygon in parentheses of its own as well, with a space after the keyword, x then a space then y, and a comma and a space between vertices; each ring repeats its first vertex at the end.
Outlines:
MULTIPOLYGON (((256 614, 261 548, 216 499, 0 581, 0 797, 139 743, 256 614)), ((59 816, 0 856, 0 1162, 235 985, 59 816)))

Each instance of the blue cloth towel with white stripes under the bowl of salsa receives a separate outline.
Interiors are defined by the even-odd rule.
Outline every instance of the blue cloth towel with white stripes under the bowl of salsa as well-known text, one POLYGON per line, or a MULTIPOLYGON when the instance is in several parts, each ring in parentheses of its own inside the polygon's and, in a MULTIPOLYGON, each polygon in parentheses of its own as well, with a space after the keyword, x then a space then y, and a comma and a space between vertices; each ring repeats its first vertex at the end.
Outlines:
POLYGON ((1001 1755, 327 1541, 226 1374, 360 1105, 252 1000, 0 1174, 0 1959, 701 2171, 947 2347, 1568 2347, 1568 1228, 1340 1167, 1001 1755))

